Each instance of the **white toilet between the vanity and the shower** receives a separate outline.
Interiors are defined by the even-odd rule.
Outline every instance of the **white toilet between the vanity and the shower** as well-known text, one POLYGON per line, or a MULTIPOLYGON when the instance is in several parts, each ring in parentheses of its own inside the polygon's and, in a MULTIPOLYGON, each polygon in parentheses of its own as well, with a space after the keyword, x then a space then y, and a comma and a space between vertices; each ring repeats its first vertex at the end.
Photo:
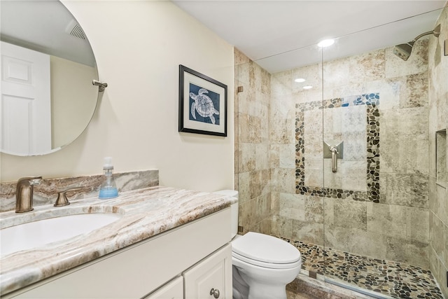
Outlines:
MULTIPOLYGON (((236 190, 216 193, 238 198, 236 190)), ((231 209, 233 299, 286 299, 286 284, 300 272, 300 251, 282 239, 258 232, 237 235, 238 202, 231 209)))

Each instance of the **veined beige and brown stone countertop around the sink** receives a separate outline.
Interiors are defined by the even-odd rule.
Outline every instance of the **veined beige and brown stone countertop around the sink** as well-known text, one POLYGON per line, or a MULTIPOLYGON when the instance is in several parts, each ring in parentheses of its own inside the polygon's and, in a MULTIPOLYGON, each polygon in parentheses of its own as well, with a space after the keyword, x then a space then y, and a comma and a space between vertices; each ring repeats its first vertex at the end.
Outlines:
MULTIPOLYGON (((43 247, 0 257, 0 294, 33 284, 90 260, 123 249, 179 225, 230 207, 235 198, 182 190, 151 187, 120 193, 111 200, 97 197, 73 200, 65 207, 45 205, 34 211, 0 213, 0 228, 30 220, 85 213, 117 213, 109 225, 84 235, 43 247)), ((51 232, 48 232, 51 233, 51 232)))

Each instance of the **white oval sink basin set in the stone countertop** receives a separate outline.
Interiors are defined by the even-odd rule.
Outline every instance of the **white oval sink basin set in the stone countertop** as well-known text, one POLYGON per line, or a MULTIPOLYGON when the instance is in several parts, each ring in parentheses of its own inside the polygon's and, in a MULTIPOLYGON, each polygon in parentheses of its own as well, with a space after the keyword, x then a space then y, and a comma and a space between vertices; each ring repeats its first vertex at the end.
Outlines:
POLYGON ((0 230, 0 256, 82 235, 117 221, 119 214, 76 214, 0 230))

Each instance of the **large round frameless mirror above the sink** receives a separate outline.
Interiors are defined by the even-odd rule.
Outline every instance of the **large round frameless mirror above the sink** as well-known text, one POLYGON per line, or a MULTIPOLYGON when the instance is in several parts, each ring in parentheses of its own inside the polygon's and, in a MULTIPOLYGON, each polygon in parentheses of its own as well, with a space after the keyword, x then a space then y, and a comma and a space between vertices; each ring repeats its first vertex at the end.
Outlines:
POLYGON ((85 130, 98 72, 76 19, 57 0, 0 1, 2 153, 45 155, 85 130))

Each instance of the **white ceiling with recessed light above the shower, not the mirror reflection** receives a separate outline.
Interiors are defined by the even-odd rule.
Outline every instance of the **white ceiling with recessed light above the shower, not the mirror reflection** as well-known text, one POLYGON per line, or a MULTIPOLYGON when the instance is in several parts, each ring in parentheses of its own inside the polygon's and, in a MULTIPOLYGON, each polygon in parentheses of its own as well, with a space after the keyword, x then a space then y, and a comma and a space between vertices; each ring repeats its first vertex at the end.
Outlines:
POLYGON ((412 41, 447 0, 172 0, 269 73, 412 41), (336 39, 319 50, 323 39, 336 39))

